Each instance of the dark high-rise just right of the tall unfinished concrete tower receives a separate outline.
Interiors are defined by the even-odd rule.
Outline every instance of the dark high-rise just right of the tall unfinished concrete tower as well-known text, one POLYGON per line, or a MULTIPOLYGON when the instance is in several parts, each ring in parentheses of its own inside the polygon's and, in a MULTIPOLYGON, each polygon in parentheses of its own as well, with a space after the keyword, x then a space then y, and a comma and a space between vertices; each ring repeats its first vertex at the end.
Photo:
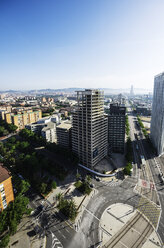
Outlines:
POLYGON ((108 153, 124 152, 126 108, 118 103, 110 104, 108 115, 108 153))

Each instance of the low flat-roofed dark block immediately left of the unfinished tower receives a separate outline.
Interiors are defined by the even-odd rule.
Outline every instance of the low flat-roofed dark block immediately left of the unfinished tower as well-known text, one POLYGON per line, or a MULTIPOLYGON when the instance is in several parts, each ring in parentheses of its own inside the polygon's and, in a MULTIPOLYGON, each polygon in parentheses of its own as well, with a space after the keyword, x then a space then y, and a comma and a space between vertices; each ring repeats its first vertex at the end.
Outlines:
POLYGON ((57 144, 64 148, 71 148, 71 129, 70 121, 63 121, 56 127, 57 144))

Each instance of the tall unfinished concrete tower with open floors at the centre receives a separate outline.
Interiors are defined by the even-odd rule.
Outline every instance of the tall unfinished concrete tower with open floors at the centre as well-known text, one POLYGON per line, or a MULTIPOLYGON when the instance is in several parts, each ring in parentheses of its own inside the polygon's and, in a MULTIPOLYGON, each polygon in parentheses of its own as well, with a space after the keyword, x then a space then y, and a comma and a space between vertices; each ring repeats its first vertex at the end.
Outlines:
POLYGON ((77 91, 77 109, 73 113, 72 150, 84 166, 93 168, 107 155, 107 125, 103 91, 77 91))

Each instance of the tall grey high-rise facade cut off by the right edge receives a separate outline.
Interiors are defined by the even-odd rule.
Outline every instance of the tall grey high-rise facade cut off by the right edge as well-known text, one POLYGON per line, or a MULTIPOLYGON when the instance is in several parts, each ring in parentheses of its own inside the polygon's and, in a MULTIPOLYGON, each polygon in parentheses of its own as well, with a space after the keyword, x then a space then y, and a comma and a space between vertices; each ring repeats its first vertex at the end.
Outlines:
POLYGON ((164 153, 164 72, 154 78, 150 138, 157 154, 164 153))

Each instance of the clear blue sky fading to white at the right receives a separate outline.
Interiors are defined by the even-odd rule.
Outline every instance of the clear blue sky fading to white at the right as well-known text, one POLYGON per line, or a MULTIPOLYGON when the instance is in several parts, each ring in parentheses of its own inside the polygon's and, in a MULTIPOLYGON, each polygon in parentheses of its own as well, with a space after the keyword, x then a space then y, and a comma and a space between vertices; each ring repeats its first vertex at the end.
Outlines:
POLYGON ((163 0, 0 0, 0 90, 153 88, 163 0))

